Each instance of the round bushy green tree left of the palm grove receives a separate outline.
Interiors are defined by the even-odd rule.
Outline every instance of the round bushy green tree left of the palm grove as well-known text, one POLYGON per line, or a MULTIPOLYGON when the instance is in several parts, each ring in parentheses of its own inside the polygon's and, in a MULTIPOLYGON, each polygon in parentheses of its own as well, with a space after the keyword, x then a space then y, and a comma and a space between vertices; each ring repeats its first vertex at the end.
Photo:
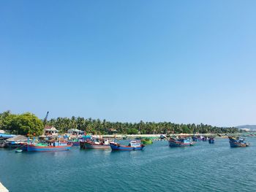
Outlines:
POLYGON ((42 120, 29 112, 21 115, 14 115, 8 112, 0 114, 0 129, 10 131, 13 134, 36 134, 43 132, 44 126, 42 120))

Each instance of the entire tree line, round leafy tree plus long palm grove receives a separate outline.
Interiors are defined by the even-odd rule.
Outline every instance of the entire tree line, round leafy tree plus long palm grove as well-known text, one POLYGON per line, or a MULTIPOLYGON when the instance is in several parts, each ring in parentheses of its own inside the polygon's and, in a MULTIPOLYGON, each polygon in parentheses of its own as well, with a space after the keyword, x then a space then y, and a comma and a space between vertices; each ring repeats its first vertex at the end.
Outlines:
MULTIPOLYGON (((203 123, 199 125, 178 124, 171 122, 143 122, 121 123, 110 122, 92 118, 52 118, 46 121, 48 126, 56 127, 60 133, 67 133, 69 128, 76 128, 88 134, 234 134, 238 128, 210 126, 203 123)), ((21 115, 11 114, 10 111, 0 113, 0 129, 17 134, 42 134, 43 120, 39 120, 29 112, 21 115)))

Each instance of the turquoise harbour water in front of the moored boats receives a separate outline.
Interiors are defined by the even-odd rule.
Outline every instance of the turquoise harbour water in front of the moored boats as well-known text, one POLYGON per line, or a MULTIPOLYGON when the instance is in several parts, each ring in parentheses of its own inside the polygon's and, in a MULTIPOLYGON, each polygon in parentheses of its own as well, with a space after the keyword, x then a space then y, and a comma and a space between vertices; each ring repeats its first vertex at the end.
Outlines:
POLYGON ((193 147, 154 142, 144 151, 15 153, 0 149, 0 181, 16 191, 256 191, 256 139, 193 147))

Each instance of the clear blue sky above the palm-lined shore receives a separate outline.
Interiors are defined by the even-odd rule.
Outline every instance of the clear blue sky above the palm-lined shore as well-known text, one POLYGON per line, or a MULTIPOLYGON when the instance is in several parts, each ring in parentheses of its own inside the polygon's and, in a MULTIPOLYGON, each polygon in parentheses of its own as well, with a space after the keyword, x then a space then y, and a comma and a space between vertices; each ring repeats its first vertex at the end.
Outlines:
POLYGON ((0 110, 256 123, 256 1, 1 1, 0 110))

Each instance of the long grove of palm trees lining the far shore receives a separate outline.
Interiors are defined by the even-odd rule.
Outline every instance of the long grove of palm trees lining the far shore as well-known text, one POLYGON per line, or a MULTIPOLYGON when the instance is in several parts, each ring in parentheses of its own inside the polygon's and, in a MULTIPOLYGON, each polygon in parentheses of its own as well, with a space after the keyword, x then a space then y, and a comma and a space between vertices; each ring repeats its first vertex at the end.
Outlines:
POLYGON ((57 118, 48 121, 48 125, 55 126, 61 133, 67 132, 69 128, 78 128, 91 134, 193 134, 212 133, 226 134, 237 133, 237 128, 221 128, 209 125, 176 124, 170 122, 154 123, 120 123, 107 120, 93 120, 91 118, 57 118), (114 131, 113 131, 114 130, 114 131))

